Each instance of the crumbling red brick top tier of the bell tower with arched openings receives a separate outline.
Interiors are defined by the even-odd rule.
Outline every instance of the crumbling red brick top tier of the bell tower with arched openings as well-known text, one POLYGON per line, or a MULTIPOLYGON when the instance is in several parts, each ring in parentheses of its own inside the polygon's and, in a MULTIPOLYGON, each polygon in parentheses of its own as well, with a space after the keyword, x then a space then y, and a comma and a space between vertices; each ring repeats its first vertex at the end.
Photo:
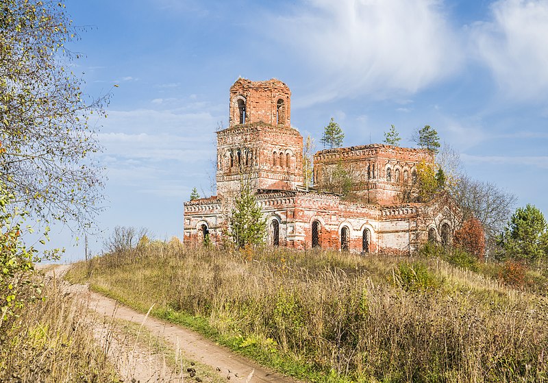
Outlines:
POLYGON ((239 78, 230 87, 229 127, 267 123, 290 127, 291 91, 279 79, 239 78))

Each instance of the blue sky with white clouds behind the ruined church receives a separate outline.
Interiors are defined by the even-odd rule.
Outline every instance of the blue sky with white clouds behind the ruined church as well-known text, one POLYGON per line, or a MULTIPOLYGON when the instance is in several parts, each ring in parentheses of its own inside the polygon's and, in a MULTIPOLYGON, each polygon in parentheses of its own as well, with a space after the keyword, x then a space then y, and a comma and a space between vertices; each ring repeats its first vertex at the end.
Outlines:
MULTIPOLYGON (((98 121, 108 169, 99 226, 182 237, 190 190, 211 195, 229 87, 275 77, 291 123, 319 142, 333 116, 345 146, 436 128, 464 171, 548 214, 548 1, 66 1, 86 27, 86 93, 112 92, 98 121), (118 88, 113 88, 118 84, 118 88)), ((98 126, 99 126, 98 125, 98 126)), ((318 145, 317 149, 322 149, 318 145)), ((82 258, 66 233, 67 258, 82 258)), ((101 236, 90 238, 100 251, 101 236)))

